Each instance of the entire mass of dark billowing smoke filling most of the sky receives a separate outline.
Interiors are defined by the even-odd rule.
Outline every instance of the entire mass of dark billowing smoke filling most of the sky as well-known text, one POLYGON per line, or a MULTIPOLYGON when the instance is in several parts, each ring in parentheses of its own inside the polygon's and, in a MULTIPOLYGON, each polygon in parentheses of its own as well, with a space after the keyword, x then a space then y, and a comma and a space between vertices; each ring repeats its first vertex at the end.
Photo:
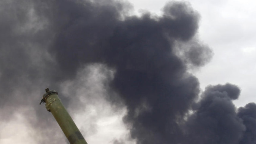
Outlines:
MULTIPOLYGON (((229 83, 200 95, 199 81, 189 73, 213 53, 197 39, 199 14, 188 3, 169 2, 161 16, 134 16, 129 3, 111 0, 0 4, 0 121, 19 109, 41 135, 33 135, 34 143, 60 143, 42 138, 58 129, 38 106, 42 89, 61 89, 93 64, 103 67, 105 99, 113 109, 127 109, 123 122, 137 144, 256 143, 256 105, 236 110, 232 100, 240 89, 229 83)), ((79 99, 61 99, 69 105, 71 98, 79 99)))

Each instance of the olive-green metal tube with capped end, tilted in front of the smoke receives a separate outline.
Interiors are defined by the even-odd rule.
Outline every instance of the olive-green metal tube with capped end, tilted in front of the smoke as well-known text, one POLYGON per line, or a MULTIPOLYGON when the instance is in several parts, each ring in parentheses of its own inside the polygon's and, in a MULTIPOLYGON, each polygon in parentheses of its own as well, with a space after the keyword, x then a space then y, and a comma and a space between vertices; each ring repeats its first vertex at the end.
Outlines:
POLYGON ((46 88, 45 92, 40 105, 41 103, 45 103, 46 109, 53 114, 69 143, 87 144, 83 135, 59 99, 58 93, 55 90, 49 90, 49 88, 46 88))

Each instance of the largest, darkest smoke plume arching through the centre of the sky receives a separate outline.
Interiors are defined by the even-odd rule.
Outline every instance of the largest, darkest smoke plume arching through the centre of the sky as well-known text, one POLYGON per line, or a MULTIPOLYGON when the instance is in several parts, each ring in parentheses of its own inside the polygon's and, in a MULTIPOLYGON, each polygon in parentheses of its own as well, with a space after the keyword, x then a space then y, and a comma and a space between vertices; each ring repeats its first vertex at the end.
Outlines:
POLYGON ((91 6, 85 7, 76 6, 72 13, 59 7, 63 17, 70 18, 53 47, 62 71, 72 75, 79 64, 93 62, 113 67, 110 85, 127 106, 124 122, 131 126, 132 138, 147 144, 178 141, 179 120, 197 97, 199 83, 173 52, 173 41, 195 35, 197 12, 173 2, 165 6, 162 17, 146 13, 119 20, 113 6, 92 12, 91 6))

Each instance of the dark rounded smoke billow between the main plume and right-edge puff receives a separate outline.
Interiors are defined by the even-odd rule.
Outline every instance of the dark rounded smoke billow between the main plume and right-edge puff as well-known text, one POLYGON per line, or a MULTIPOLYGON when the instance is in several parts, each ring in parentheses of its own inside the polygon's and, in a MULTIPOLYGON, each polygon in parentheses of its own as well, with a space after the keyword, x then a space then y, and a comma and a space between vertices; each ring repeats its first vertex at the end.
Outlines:
POLYGON ((238 143, 245 131, 231 101, 240 90, 229 83, 208 86, 188 121, 189 143, 238 143))

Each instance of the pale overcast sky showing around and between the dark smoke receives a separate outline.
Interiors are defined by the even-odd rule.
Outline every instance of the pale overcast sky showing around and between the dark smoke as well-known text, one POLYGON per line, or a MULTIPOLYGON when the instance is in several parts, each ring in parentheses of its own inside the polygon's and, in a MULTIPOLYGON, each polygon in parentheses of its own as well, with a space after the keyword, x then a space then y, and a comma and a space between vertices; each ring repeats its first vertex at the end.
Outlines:
MULTIPOLYGON (((134 7, 134 13, 138 15, 143 11, 162 15, 162 8, 167 1, 130 0, 130 2, 134 7)), ((208 64, 199 69, 191 70, 199 79, 201 90, 203 91, 208 85, 232 83, 241 89, 239 99, 234 101, 237 107, 244 106, 249 102, 255 102, 256 2, 252 0, 190 0, 188 2, 200 14, 198 39, 205 45, 208 45, 214 53, 208 64)), ((44 53, 44 50, 37 53, 44 53)), ((34 54, 35 61, 40 59, 37 59, 36 53, 34 54)), ((50 54, 46 55, 49 58, 47 61, 53 61, 54 63, 54 60, 50 58, 50 54)), ((1 61, 4 61, 4 58, 1 61)), ((38 61, 40 62, 41 60, 38 61)), ((48 69, 43 70, 47 71, 48 69)), ((70 100, 67 109, 89 144, 118 144, 117 141, 115 143, 115 140, 118 140, 120 144, 122 141, 127 144, 135 143, 134 140, 128 141, 129 131, 122 121, 123 116, 127 112, 125 107, 121 109, 113 108, 105 99, 105 94, 108 92, 104 88, 104 81, 108 80, 108 77, 113 77, 113 71, 106 69, 101 64, 92 64, 80 68, 74 79, 64 80, 59 83, 58 92, 61 91, 61 94, 66 94, 66 96, 62 96, 64 99, 68 99, 68 96, 74 93, 78 98, 70 100), (108 76, 105 75, 106 71, 108 71, 108 76), (75 92, 73 93, 73 91, 75 92), (83 97, 83 95, 86 95, 86 97, 83 97)), ((0 77, 1 73, 2 71, 0 71, 0 77)), ((42 75, 40 74, 40 76, 42 75)), ((33 102, 38 101, 38 104, 47 84, 54 86, 54 84, 45 81, 39 81, 39 84, 34 84, 34 81, 27 82, 26 76, 22 80, 25 80, 24 85, 35 85, 35 90, 31 93, 24 92, 26 90, 21 89, 23 88, 22 86, 16 85, 16 88, 20 89, 14 90, 15 92, 12 92, 12 94, 18 96, 20 91, 22 91, 22 94, 29 93, 33 95, 33 97, 29 98, 33 102), (41 88, 39 87, 40 84, 42 84, 41 88)), ((21 82, 18 83, 23 85, 21 82)), ((10 99, 4 98, 1 100, 5 100, 9 104, 8 100, 10 99)), ((19 102, 24 102, 23 105, 26 105, 25 100, 17 100, 15 104, 20 105, 18 104, 19 102)), ((45 137, 40 136, 41 133, 38 133, 39 129, 34 129, 36 124, 31 124, 33 123, 31 115, 37 115, 37 110, 35 109, 42 109, 42 112, 45 113, 44 116, 46 116, 45 119, 47 121, 54 121, 53 116, 45 110, 44 105, 38 105, 39 108, 31 108, 34 104, 32 105, 28 102, 27 106, 15 109, 15 107, 7 104, 0 107, 2 108, 0 116, 9 115, 8 113, 12 113, 12 115, 9 119, 0 118, 0 143, 44 143, 45 137)), ((55 124, 57 125, 57 123, 51 123, 50 125, 55 124)), ((67 142, 64 135, 61 135, 62 132, 61 129, 58 129, 58 125, 56 126, 56 131, 59 131, 58 134, 60 134, 60 136, 56 134, 56 138, 61 139, 59 143, 67 142)), ((53 134, 49 135, 53 136, 53 134)), ((47 143, 47 140, 45 143, 47 143)))

